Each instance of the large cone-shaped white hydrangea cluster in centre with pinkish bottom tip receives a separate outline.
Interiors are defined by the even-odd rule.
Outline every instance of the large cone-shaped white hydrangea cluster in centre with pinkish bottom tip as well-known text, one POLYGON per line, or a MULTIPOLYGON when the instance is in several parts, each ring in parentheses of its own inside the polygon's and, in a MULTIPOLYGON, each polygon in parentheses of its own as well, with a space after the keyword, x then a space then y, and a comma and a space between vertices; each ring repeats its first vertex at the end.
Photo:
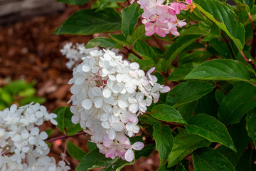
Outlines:
POLYGON ((139 133, 137 116, 146 112, 152 100, 159 100, 159 92, 170 88, 156 83, 151 75, 154 68, 145 74, 138 63, 123 61, 110 50, 91 51, 82 60, 69 81, 73 84, 72 121, 92 135, 92 142, 106 157, 132 161, 133 150, 141 150, 144 144, 131 145, 127 135, 139 133))

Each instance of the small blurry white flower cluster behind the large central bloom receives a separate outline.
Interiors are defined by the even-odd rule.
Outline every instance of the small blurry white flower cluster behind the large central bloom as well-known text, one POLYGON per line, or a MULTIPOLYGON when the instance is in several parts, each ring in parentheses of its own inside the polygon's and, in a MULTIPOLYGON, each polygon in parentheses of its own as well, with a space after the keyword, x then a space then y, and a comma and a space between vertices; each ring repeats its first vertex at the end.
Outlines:
POLYGON ((69 59, 69 61, 66 63, 66 66, 71 69, 82 59, 83 56, 87 56, 90 54, 90 51, 98 49, 98 47, 85 48, 85 43, 75 43, 75 45, 73 45, 73 43, 70 42, 66 43, 65 46, 60 49, 60 52, 63 56, 66 56, 66 58, 69 59))

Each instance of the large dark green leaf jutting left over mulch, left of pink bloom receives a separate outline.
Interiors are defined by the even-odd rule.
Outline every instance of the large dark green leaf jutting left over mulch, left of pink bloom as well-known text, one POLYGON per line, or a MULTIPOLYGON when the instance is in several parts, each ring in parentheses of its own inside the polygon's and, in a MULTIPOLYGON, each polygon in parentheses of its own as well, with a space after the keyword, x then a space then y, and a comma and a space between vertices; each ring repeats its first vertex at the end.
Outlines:
POLYGON ((70 16, 54 33, 90 35, 117 31, 119 28, 121 28, 121 17, 114 9, 107 8, 97 12, 92 9, 82 9, 70 16))

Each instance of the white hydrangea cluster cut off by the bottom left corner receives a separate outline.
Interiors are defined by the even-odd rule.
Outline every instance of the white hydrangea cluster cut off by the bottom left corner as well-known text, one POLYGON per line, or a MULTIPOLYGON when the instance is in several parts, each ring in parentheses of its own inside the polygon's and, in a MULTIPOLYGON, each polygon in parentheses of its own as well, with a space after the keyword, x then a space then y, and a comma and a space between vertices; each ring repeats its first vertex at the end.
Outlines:
POLYGON ((48 135, 44 131, 40 133, 37 127, 46 120, 57 125, 56 117, 39 103, 20 108, 11 105, 0 111, 0 170, 70 170, 65 162, 56 165, 55 159, 47 156, 50 149, 44 140, 48 135))

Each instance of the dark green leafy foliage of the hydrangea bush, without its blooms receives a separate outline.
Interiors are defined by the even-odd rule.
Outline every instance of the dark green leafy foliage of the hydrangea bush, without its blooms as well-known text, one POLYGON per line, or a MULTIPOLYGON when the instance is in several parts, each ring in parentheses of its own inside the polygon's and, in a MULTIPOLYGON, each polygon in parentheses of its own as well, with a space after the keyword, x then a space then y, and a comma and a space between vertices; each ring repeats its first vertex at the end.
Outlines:
MULTIPOLYGON (((154 150, 159 152, 159 171, 188 170, 191 157, 195 171, 256 170, 256 66, 252 56, 256 5, 254 0, 235 2, 230 6, 225 0, 193 0, 196 9, 181 11, 179 19, 189 22, 178 28, 180 36, 174 38, 145 36, 143 10, 123 0, 97 0, 92 9, 77 11, 55 30, 82 35, 117 31, 92 39, 86 48, 119 48, 125 59, 139 63, 142 70, 156 67, 153 75, 158 83, 171 87, 139 115, 143 133, 129 140, 144 142, 145 147, 134 151, 132 162, 106 158, 90 141, 86 155, 68 142, 68 152, 80 160, 76 170, 122 170, 154 150)), ((9 96, 3 100, 9 103, 9 96)), ((70 121, 69 108, 58 108, 55 113, 57 128, 66 135, 81 130, 70 121)))

